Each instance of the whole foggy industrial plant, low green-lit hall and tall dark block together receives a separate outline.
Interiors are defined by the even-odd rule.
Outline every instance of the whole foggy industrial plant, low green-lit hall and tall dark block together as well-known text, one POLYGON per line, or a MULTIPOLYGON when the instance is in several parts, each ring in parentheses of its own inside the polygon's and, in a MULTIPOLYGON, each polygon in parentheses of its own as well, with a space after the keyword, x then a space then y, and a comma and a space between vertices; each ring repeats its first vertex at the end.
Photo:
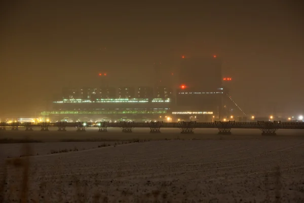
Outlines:
MULTIPOLYGON (((163 85, 161 64, 155 64, 154 68, 154 87, 114 88, 103 85, 99 88, 64 88, 60 99, 53 101, 53 109, 41 115, 53 121, 68 118, 73 121, 212 122, 234 118, 232 114, 237 116, 234 109, 242 112, 222 84, 230 83, 231 78, 222 77, 221 60, 217 56, 182 57, 179 73, 176 74, 178 87, 175 84, 163 85)), ((169 74, 164 80, 172 80, 173 75, 169 74)))

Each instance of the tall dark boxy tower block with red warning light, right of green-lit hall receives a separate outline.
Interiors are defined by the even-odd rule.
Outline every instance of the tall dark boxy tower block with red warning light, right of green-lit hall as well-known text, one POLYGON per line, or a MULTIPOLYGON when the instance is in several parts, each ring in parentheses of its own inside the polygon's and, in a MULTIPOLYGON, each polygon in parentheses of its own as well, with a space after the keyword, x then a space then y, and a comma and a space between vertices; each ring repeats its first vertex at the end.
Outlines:
MULTIPOLYGON (((203 121, 222 116, 223 97, 221 60, 216 56, 181 59, 180 87, 176 92, 179 112, 209 112, 198 115, 203 121)), ((195 116, 197 118, 198 116, 195 116)))

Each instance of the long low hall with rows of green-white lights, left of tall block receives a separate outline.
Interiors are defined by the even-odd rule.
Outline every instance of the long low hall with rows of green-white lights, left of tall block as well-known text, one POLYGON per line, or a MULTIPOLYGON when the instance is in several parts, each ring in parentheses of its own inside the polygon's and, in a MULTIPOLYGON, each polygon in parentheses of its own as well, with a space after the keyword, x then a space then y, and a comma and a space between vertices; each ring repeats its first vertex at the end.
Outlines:
MULTIPOLYGON (((166 89, 166 88, 160 88, 166 89)), ((158 119, 160 115, 170 114, 172 99, 169 96, 157 97, 153 87, 138 87, 135 94, 134 87, 121 88, 71 88, 81 92, 79 97, 69 96, 66 89, 61 99, 53 101, 53 110, 44 111, 41 116, 51 120, 149 120, 158 119), (118 92, 115 96, 116 90, 118 92), (87 91, 87 92, 86 92, 87 91), (65 95, 64 95, 65 94, 65 95), (96 96, 95 96, 96 95, 96 96), (113 97, 109 97, 109 96, 113 97)), ((72 93, 73 94, 73 93, 72 93)), ((164 116, 165 117, 165 116, 164 116)))

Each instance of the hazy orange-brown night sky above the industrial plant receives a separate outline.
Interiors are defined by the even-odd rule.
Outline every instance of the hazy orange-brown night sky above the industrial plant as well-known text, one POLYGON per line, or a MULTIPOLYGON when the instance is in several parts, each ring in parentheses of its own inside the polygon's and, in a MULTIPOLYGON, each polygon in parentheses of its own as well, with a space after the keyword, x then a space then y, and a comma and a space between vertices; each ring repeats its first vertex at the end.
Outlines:
POLYGON ((246 112, 304 113, 303 4, 1 1, 0 117, 41 111, 100 72, 116 86, 152 85, 154 62, 174 71, 182 55, 213 54, 246 112))

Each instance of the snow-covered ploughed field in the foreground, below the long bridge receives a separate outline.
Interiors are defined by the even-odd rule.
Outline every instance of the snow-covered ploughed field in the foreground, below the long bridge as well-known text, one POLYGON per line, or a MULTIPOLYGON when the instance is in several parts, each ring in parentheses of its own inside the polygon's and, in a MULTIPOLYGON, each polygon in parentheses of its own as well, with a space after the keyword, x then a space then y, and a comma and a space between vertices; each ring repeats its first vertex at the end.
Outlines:
MULTIPOLYGON (((31 156, 29 198, 37 202, 304 202, 304 138, 228 138, 150 141, 31 156)), ((41 144, 45 143, 35 145, 41 144)), ((21 178, 16 175, 20 168, 9 166, 7 171, 6 197, 19 202, 14 194, 20 194, 21 178)))

